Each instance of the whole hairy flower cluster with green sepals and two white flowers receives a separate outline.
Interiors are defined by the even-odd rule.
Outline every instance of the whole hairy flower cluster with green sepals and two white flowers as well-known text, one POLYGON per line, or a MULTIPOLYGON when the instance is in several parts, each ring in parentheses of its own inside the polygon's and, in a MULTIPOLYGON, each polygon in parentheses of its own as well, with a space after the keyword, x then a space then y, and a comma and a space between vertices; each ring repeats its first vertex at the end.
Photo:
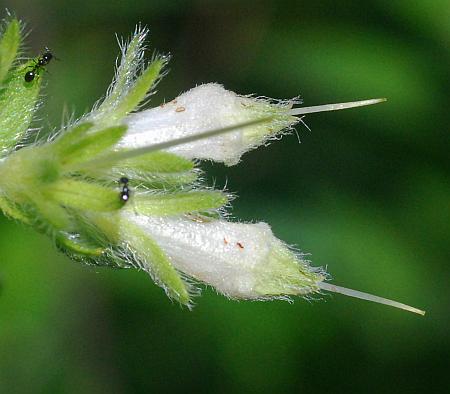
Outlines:
POLYGON ((235 165, 245 152, 292 130, 304 114, 383 99, 295 108, 296 100, 241 96, 211 83, 140 110, 168 61, 165 56, 144 60, 146 35, 138 28, 121 45, 121 61, 103 101, 45 141, 30 144, 40 71, 52 56, 47 52, 16 63, 21 26, 14 18, 4 24, 3 212, 48 234, 74 260, 147 272, 170 298, 188 307, 198 284, 205 283, 235 299, 325 290, 423 313, 333 286, 268 224, 230 221, 230 194, 205 186, 197 167, 198 160, 235 165))

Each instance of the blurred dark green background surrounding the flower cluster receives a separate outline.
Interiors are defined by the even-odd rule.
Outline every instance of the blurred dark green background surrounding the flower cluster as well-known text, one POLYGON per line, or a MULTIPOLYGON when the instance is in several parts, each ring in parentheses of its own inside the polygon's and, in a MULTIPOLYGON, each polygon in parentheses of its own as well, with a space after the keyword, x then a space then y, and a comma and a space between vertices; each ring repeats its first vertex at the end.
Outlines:
POLYGON ((193 312, 144 273, 88 268, 0 219, 0 392, 448 392, 450 4, 441 1, 16 0, 27 55, 49 46, 47 129, 105 92, 114 34, 137 22, 170 52, 152 103, 203 82, 306 105, 387 97, 306 118, 232 168, 233 214, 327 266, 333 281, 427 310, 324 296, 193 312), (339 4, 338 4, 339 3, 339 4))

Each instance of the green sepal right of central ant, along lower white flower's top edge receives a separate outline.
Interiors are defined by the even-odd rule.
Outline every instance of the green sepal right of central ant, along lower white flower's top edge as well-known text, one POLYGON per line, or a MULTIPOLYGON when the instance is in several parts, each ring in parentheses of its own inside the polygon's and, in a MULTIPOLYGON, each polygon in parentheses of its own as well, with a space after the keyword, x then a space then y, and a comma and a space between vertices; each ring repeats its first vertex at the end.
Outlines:
POLYGON ((192 191, 175 194, 142 193, 133 196, 133 209, 142 215, 172 216, 219 209, 228 202, 219 191, 192 191))

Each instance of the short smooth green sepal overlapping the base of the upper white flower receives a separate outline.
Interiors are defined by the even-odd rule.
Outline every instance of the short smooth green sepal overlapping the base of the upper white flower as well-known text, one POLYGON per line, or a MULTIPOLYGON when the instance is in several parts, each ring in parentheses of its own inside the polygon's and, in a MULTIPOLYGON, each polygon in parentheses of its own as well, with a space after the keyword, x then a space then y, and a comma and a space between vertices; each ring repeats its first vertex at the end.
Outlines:
MULTIPOLYGON (((126 126, 114 126, 92 133, 86 133, 85 129, 88 127, 89 124, 80 125, 75 135, 84 132, 84 137, 78 140, 72 139, 71 144, 64 143, 62 147, 56 144, 56 149, 63 166, 82 163, 108 151, 119 142, 127 130, 126 126)), ((62 142, 64 142, 64 139, 62 142)))

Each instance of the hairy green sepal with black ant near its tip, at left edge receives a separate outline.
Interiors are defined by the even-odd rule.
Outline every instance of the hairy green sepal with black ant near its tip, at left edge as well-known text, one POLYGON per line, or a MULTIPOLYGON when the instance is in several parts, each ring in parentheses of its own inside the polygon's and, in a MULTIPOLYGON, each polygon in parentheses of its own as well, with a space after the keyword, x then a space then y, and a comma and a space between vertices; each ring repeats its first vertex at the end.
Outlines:
POLYGON ((37 108, 42 75, 25 82, 34 60, 17 68, 6 79, 0 96, 0 151, 5 154, 25 136, 37 108))

